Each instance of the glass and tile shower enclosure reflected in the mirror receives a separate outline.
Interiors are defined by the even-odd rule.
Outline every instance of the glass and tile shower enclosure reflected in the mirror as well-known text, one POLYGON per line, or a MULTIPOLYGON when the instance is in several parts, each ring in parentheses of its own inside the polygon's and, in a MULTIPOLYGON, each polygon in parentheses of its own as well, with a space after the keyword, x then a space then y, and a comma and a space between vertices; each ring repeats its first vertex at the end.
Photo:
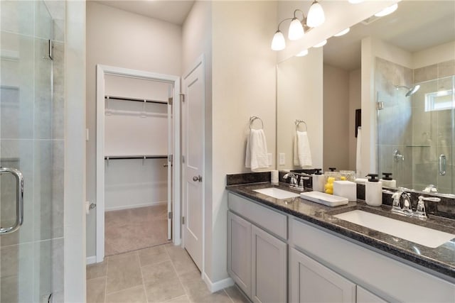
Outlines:
POLYGON ((411 70, 376 59, 378 170, 398 186, 455 194, 454 74, 455 60, 411 70))

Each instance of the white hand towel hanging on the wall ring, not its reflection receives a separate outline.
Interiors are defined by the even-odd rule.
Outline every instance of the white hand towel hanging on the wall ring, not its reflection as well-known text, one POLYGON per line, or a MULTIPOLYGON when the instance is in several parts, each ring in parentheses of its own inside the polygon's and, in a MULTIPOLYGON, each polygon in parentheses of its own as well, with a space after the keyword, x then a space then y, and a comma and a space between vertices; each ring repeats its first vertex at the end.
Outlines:
POLYGON ((245 155, 245 167, 251 167, 252 171, 258 168, 269 167, 267 155, 267 141, 262 129, 252 129, 247 138, 247 153, 245 155))

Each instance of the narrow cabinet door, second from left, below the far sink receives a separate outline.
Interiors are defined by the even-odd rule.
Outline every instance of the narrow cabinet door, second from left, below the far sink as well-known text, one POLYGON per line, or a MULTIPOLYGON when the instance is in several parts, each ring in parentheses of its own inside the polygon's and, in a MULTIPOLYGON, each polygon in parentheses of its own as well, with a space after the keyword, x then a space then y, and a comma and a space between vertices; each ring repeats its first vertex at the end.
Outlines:
POLYGON ((252 226, 252 301, 287 302, 287 244, 252 226))

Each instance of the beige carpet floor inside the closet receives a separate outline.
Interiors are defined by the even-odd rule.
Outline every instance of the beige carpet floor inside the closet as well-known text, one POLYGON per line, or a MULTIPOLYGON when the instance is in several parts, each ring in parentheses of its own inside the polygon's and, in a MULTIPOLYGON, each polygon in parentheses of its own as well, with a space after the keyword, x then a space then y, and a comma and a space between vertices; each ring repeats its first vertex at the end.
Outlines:
POLYGON ((105 255, 168 243, 167 205, 105 212, 105 255))

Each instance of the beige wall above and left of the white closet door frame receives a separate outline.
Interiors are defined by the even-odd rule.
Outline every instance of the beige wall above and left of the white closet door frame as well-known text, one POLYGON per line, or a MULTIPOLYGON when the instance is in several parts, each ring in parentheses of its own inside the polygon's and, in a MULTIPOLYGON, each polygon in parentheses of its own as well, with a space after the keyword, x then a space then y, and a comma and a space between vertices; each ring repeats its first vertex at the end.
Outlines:
MULTIPOLYGON (((97 64, 181 75, 181 26, 87 1, 87 200, 95 202, 97 64)), ((102 190, 102 189, 101 189, 102 190)), ((87 257, 95 255, 95 211, 87 216, 87 257)))

